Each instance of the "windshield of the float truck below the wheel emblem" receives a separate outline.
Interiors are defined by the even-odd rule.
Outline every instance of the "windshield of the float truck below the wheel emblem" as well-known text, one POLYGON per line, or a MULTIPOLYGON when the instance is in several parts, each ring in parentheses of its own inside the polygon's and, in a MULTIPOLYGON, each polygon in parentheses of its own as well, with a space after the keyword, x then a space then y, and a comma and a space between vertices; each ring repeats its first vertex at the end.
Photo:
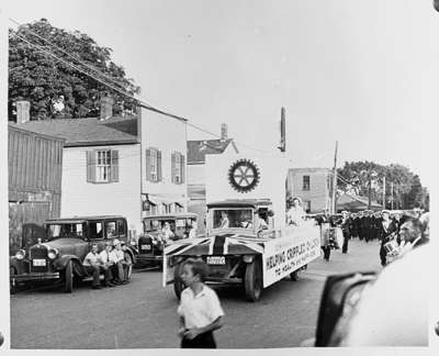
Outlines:
POLYGON ((254 227, 252 209, 215 209, 213 212, 213 229, 254 227))

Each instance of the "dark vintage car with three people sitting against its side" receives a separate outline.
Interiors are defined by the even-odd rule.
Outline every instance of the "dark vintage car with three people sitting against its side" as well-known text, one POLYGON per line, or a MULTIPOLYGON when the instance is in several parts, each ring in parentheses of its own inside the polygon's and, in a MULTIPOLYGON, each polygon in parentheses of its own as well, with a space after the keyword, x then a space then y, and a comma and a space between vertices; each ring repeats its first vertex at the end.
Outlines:
POLYGON ((43 238, 10 258, 11 293, 20 283, 42 280, 59 281, 66 292, 71 292, 74 280, 89 277, 82 262, 92 244, 98 244, 102 251, 108 241, 117 238, 123 244, 125 260, 132 265, 135 259, 135 248, 127 244, 127 224, 123 216, 53 219, 44 226, 43 238))

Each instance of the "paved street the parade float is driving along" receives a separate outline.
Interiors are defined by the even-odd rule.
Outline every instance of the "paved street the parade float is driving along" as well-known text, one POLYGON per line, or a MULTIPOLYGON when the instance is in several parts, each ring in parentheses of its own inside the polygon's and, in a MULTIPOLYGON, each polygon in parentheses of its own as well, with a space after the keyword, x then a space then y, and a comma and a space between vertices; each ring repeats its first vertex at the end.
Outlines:
MULTIPOLYGON (((293 347, 313 337, 325 277, 351 270, 379 270, 379 243, 351 242, 348 255, 333 252, 308 265, 300 281, 282 280, 259 302, 240 291, 217 289, 226 312, 216 333, 223 348, 293 347)), ((11 297, 13 348, 178 347, 177 299, 161 288, 159 271, 135 272, 126 286, 92 290, 83 283, 72 294, 57 289, 22 291, 11 297)))

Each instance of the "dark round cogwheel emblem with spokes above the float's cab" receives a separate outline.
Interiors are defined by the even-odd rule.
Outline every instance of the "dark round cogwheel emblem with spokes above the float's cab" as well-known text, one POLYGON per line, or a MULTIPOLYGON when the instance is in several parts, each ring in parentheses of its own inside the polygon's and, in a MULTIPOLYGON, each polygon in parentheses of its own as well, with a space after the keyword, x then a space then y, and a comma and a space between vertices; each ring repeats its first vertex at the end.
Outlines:
POLYGON ((230 186, 239 192, 248 192, 258 185, 260 174, 258 167, 248 159, 235 162, 228 170, 230 186))

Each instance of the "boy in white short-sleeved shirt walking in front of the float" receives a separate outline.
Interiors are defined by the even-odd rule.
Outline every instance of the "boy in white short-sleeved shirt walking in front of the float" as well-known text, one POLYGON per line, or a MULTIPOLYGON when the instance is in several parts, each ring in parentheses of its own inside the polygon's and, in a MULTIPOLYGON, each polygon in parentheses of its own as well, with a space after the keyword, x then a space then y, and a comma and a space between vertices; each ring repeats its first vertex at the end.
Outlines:
POLYGON ((224 311, 215 291, 204 285, 206 275, 204 262, 185 260, 181 279, 187 288, 177 310, 182 348, 216 348, 213 332, 222 327, 224 311))

